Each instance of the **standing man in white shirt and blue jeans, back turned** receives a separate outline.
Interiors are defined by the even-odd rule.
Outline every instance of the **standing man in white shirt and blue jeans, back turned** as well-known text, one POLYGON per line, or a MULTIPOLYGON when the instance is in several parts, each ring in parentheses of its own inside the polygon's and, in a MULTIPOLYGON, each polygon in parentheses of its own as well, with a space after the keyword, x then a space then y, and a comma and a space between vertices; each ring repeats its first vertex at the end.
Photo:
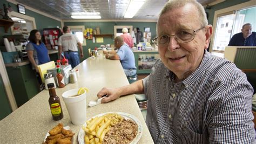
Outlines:
POLYGON ((80 49, 80 58, 84 57, 83 47, 78 38, 70 33, 70 28, 68 26, 63 27, 63 32, 64 35, 59 37, 58 42, 59 58, 62 57, 62 52, 64 52, 65 58, 69 60, 69 64, 73 68, 80 63, 77 45, 80 49))

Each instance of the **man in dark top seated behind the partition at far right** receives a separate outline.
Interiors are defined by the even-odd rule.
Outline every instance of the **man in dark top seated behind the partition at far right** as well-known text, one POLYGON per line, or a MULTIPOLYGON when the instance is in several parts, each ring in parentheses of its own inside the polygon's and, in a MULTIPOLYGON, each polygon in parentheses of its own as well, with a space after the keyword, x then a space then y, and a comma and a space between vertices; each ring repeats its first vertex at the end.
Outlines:
POLYGON ((231 39, 229 46, 256 46, 256 32, 252 32, 250 23, 244 24, 242 32, 235 34, 231 39))

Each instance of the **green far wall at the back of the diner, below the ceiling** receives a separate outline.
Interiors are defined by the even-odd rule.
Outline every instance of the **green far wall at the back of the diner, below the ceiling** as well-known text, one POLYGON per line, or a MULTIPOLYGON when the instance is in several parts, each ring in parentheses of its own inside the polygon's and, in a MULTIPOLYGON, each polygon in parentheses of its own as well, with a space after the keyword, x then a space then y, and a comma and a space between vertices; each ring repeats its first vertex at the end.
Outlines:
MULTIPOLYGON (((114 25, 132 25, 134 28, 139 28, 140 31, 144 32, 145 27, 150 28, 151 37, 156 36, 156 22, 76 22, 75 20, 73 22, 64 22, 64 25, 84 25, 86 28, 92 28, 96 29, 99 27, 100 34, 112 34, 114 35, 114 25)), ((99 47, 100 45, 106 45, 106 44, 114 44, 114 37, 104 37, 103 43, 92 43, 91 39, 86 39, 86 46, 83 46, 84 50, 84 59, 89 57, 88 49, 91 48, 92 50, 95 47, 99 47)))

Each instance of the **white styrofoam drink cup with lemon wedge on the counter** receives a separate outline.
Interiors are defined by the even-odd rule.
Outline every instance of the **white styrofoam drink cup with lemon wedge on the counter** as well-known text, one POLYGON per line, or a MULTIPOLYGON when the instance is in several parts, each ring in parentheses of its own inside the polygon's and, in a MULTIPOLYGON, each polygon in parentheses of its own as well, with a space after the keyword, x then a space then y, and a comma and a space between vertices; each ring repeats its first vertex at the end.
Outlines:
POLYGON ((66 91, 62 94, 66 109, 73 125, 82 125, 86 121, 86 92, 76 97, 79 88, 66 91))

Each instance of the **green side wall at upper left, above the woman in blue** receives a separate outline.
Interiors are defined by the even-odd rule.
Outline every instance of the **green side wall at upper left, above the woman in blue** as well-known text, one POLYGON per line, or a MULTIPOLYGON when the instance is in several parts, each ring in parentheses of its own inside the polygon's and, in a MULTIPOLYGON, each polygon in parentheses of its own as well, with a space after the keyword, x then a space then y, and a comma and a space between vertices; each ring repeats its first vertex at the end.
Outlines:
MULTIPOLYGON (((3 9, 3 4, 10 4, 11 8, 14 9, 14 11, 18 12, 17 5, 12 4, 7 1, 0 1, 0 8, 3 9)), ((56 28, 57 26, 61 26, 61 22, 49 17, 45 17, 43 15, 40 15, 39 13, 33 12, 31 10, 26 9, 26 15, 30 17, 34 17, 36 21, 36 27, 39 31, 42 31, 43 28, 56 28)), ((11 35, 11 29, 8 30, 7 33, 4 32, 4 28, 0 27, 0 45, 4 46, 3 43, 3 36, 4 35, 11 35)))

